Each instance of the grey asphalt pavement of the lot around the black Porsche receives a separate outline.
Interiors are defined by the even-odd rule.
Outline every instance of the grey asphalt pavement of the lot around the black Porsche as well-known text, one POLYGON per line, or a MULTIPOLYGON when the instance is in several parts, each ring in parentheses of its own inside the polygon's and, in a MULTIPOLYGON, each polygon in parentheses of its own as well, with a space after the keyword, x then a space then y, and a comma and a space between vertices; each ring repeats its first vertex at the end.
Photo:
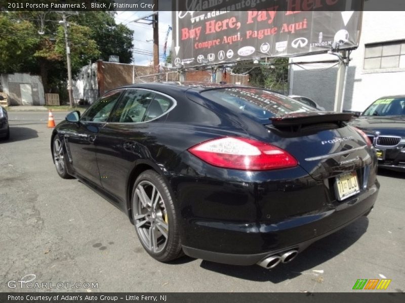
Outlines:
MULTIPOLYGON (((56 123, 65 115, 55 112, 56 123)), ((47 112, 10 112, 9 120, 11 139, 0 141, 0 291, 347 292, 357 279, 385 278, 388 291, 405 290, 405 173, 380 171, 369 217, 271 271, 187 257, 163 264, 124 213, 58 176, 47 112), (19 279, 47 286, 20 287, 19 279)))

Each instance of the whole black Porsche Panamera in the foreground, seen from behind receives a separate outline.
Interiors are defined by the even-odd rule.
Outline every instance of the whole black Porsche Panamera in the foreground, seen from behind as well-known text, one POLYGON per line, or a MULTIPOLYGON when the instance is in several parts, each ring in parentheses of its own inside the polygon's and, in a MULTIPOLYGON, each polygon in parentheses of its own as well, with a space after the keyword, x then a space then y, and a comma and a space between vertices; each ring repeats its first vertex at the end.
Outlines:
POLYGON ((51 149, 156 260, 272 268, 373 208, 376 153, 350 118, 254 87, 149 83, 67 115, 51 149))

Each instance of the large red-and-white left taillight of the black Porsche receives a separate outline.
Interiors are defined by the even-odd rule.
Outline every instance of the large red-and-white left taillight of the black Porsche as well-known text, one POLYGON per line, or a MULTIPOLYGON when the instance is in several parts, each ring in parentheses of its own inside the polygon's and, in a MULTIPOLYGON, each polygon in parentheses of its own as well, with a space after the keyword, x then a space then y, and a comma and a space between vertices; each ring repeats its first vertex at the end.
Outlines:
POLYGON ((294 167, 297 160, 287 151, 264 142, 240 137, 224 137, 188 149, 199 159, 223 168, 270 170, 294 167))

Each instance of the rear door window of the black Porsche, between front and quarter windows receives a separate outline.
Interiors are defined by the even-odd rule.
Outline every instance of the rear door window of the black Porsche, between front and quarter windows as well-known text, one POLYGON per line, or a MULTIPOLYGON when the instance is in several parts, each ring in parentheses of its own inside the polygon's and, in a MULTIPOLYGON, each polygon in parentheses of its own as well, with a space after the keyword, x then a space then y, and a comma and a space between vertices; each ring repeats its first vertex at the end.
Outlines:
POLYGON ((111 122, 142 122, 154 95, 150 91, 128 89, 118 108, 113 113, 111 122))

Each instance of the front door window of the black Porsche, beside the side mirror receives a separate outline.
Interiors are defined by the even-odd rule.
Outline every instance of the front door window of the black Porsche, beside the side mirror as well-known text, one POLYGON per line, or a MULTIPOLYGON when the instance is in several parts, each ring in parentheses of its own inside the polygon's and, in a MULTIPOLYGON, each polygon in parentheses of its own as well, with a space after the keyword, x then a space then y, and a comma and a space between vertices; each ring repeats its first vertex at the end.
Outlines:
POLYGON ((122 90, 114 90, 98 99, 82 116, 82 121, 106 122, 122 90))

